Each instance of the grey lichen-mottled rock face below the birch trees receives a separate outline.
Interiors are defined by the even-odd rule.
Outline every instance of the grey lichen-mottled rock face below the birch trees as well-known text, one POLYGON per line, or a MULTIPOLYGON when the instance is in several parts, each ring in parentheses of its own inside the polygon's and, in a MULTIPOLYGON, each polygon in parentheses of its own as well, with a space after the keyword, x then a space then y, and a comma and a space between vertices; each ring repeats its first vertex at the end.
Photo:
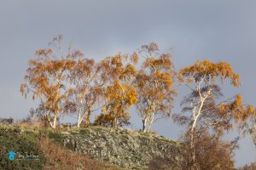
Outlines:
POLYGON ((61 132, 58 140, 72 150, 125 169, 148 169, 150 162, 160 160, 173 162, 168 169, 179 169, 182 161, 182 144, 154 133, 84 127, 61 132))

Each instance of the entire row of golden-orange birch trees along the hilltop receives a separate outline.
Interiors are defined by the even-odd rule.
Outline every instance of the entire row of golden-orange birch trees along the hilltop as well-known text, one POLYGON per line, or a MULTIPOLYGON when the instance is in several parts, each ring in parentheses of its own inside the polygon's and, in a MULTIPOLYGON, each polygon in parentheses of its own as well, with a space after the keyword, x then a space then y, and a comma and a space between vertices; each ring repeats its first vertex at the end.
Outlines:
POLYGON ((241 95, 222 99, 222 82, 240 85, 239 75, 226 62, 197 61, 174 71, 171 55, 160 54, 154 42, 133 54, 116 54, 95 62, 71 45, 65 54, 61 37, 55 37, 49 48, 39 49, 36 55, 28 62, 26 83, 20 91, 40 101, 40 116, 51 127, 66 115, 77 116, 78 127, 92 123, 92 117, 98 125, 125 126, 134 106, 142 118, 143 132, 150 132, 155 121, 171 116, 177 84, 191 90, 183 100, 183 111, 189 114, 173 118, 191 134, 206 127, 223 133, 233 120, 242 122, 243 127, 254 120, 253 106, 242 104, 241 95))

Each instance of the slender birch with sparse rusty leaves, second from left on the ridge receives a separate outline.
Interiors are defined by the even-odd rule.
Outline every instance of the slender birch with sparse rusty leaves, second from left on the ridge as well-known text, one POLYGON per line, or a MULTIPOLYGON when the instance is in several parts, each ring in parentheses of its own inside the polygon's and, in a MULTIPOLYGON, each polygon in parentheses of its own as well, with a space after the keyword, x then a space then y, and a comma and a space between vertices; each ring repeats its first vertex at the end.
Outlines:
POLYGON ((102 92, 98 72, 99 67, 94 59, 80 58, 67 77, 72 86, 67 92, 65 109, 79 116, 78 127, 82 122, 90 123, 90 115, 102 92))

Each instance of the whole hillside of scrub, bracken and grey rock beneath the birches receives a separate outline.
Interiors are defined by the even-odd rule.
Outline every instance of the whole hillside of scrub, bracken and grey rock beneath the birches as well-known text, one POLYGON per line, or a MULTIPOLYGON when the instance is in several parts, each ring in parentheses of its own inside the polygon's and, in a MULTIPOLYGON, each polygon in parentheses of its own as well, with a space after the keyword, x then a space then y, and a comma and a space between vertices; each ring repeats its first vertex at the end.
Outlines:
POLYGON ((0 169, 10 170, 177 169, 182 160, 180 144, 175 141, 105 127, 0 126, 0 151, 0 169), (9 160, 9 151, 17 153, 14 161, 9 160))

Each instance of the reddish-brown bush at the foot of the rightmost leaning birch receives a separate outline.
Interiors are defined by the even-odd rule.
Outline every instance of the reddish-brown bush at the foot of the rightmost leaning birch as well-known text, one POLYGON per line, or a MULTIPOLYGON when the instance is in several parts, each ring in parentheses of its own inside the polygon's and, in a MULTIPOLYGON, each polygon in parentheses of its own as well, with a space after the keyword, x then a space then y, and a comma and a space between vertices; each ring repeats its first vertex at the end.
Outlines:
POLYGON ((204 131, 195 141, 195 164, 191 163, 192 150, 190 148, 189 134, 184 135, 183 169, 198 170, 235 170, 234 152, 237 141, 224 142, 218 135, 204 131))

